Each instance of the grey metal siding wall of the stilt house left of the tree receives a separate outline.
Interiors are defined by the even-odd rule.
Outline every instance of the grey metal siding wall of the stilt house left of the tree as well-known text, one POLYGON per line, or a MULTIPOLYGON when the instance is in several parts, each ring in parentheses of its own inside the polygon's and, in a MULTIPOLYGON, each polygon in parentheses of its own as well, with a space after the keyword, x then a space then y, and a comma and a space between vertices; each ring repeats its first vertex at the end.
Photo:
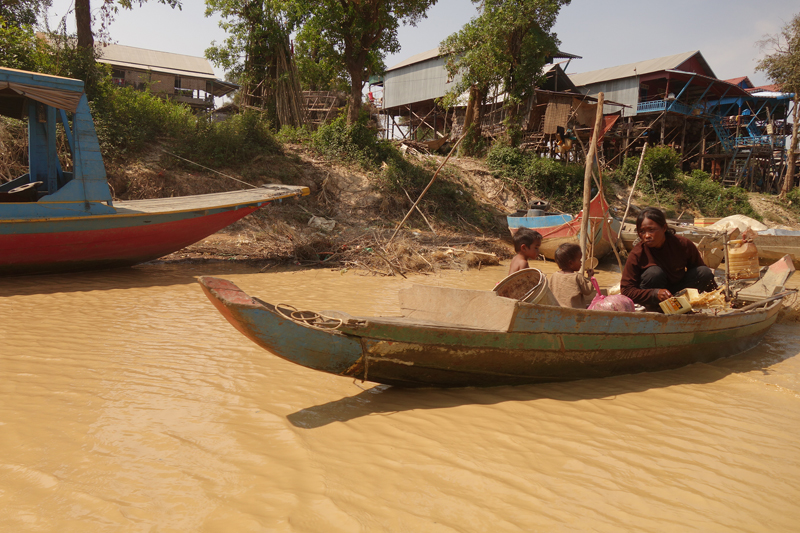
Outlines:
POLYGON ((389 71, 383 82, 383 107, 439 98, 459 79, 457 76, 447 83, 447 70, 441 57, 389 71))

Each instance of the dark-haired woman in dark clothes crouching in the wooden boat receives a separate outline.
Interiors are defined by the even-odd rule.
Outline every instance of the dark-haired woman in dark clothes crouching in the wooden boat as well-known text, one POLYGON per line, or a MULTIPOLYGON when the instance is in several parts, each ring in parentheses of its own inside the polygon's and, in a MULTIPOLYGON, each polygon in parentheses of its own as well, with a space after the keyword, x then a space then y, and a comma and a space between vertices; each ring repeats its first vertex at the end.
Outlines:
POLYGON ((658 304, 681 289, 707 292, 717 288, 714 272, 697 247, 675 235, 660 209, 643 209, 636 219, 636 233, 639 243, 628 254, 620 282, 622 294, 635 303, 660 311, 658 304))

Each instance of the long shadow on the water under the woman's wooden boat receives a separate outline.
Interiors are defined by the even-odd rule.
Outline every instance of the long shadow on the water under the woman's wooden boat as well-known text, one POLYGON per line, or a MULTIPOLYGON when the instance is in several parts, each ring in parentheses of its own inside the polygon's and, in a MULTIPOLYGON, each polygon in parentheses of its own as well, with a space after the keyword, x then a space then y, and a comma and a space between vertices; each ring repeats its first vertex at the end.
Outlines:
POLYGON ((355 396, 301 409, 287 416, 289 422, 303 429, 314 429, 333 422, 347 422, 363 416, 386 415, 417 409, 446 409, 463 405, 495 405, 532 400, 613 401, 616 396, 674 385, 702 385, 756 367, 766 369, 769 361, 759 364, 757 348, 726 361, 744 358, 740 365, 694 364, 676 370, 631 374, 604 379, 589 379, 539 385, 490 388, 404 389, 378 385, 355 396))

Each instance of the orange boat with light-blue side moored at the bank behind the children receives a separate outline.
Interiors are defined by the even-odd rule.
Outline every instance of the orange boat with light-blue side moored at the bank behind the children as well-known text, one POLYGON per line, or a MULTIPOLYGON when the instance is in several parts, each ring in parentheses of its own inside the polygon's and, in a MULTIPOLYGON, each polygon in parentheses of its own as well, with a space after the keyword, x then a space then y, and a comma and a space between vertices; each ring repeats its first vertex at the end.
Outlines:
MULTIPOLYGON (((602 195, 592 198, 589 204, 590 233, 593 236, 592 255, 602 259, 612 252, 611 243, 616 240, 619 223, 608 213, 608 204, 602 195)), ((575 217, 571 215, 545 215, 540 217, 508 216, 508 229, 511 235, 519 228, 531 228, 542 234, 539 253, 551 261, 555 260, 556 248, 564 243, 577 244, 580 239, 583 211, 575 217)))

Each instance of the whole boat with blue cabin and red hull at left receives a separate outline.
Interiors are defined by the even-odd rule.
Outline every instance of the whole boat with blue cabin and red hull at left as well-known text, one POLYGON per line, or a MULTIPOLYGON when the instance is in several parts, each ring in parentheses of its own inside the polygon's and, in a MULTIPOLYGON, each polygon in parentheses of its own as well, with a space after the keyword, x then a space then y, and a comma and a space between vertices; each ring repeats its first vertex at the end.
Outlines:
POLYGON ((0 185, 0 273, 130 266, 192 244, 271 201, 308 194, 270 185, 245 191, 115 201, 83 82, 0 68, 0 114, 28 120, 29 172, 0 185), (56 123, 73 172, 63 171, 56 123))

